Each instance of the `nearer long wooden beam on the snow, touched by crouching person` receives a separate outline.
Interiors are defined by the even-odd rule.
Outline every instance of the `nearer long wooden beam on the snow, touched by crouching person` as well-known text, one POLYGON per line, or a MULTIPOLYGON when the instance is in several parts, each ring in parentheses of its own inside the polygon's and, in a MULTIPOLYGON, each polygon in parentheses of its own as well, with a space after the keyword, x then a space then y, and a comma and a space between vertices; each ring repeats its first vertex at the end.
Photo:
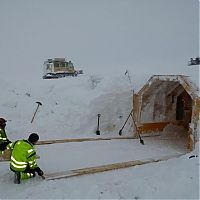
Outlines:
POLYGON ((81 175, 87 175, 87 174, 100 173, 100 172, 105 172, 105 171, 110 171, 110 170, 133 167, 133 166, 137 166, 137 165, 143 165, 143 164, 147 164, 147 163, 154 163, 154 162, 169 160, 172 158, 178 158, 182 155, 185 155, 185 154, 176 154, 176 155, 164 156, 161 158, 147 158, 144 160, 133 160, 133 161, 122 162, 122 163, 114 163, 114 164, 88 167, 88 168, 82 168, 82 169, 55 172, 55 173, 50 173, 50 174, 44 175, 44 179, 48 181, 48 180, 55 180, 55 179, 62 179, 62 178, 70 178, 73 176, 81 176, 81 175))

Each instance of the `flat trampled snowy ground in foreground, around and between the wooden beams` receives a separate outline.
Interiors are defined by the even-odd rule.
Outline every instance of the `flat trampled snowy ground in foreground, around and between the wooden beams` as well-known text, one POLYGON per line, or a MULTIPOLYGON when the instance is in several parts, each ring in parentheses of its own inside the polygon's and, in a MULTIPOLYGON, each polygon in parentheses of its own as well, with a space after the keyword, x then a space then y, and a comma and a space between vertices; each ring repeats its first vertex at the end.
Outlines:
MULTIPOLYGON (((41 156, 38 163, 48 173, 185 152, 183 145, 174 146, 160 137, 144 141, 145 145, 138 140, 111 140, 37 146, 41 156)), ((197 154, 68 179, 45 181, 36 177, 20 185, 12 183, 8 163, 1 163, 1 198, 198 199, 199 159, 189 159, 197 154)))

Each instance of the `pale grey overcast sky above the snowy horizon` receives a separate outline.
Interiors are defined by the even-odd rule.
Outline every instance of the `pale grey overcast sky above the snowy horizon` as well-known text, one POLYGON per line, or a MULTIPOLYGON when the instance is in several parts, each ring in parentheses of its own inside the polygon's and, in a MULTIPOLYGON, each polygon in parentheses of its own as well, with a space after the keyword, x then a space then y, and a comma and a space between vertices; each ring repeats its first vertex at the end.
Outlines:
MULTIPOLYGON (((47 58, 79 68, 184 74, 199 55, 198 0, 0 0, 0 70, 42 76, 47 58), (12 69, 12 70, 11 70, 12 69)), ((198 73, 197 73, 198 74, 198 73)))

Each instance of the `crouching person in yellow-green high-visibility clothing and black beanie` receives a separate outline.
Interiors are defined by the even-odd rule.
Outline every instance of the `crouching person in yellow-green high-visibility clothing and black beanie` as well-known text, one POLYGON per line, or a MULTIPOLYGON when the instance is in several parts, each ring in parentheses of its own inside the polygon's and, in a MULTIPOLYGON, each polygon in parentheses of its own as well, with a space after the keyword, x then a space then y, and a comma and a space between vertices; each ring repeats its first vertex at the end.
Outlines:
POLYGON ((43 176, 43 171, 36 163, 34 145, 38 140, 38 134, 32 133, 28 140, 17 140, 12 144, 10 169, 15 172, 14 183, 20 184, 21 180, 35 177, 35 172, 39 176, 43 176))

